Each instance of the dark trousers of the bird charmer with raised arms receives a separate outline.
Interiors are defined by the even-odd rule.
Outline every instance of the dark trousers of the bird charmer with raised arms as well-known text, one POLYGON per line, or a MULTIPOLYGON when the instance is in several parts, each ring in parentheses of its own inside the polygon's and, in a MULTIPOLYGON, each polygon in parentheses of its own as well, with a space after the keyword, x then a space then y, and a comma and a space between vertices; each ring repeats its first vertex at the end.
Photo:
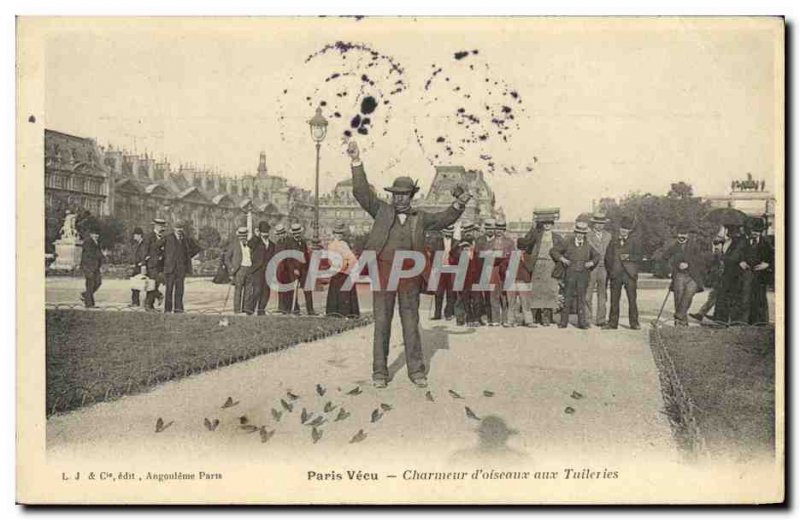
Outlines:
POLYGON ((387 358, 395 300, 398 302, 400 322, 403 327, 408 376, 414 379, 425 375, 422 339, 419 334, 419 293, 419 285, 411 283, 407 285, 401 283, 397 291, 381 290, 373 293, 372 305, 375 314, 375 335, 372 343, 373 379, 389 379, 387 358))

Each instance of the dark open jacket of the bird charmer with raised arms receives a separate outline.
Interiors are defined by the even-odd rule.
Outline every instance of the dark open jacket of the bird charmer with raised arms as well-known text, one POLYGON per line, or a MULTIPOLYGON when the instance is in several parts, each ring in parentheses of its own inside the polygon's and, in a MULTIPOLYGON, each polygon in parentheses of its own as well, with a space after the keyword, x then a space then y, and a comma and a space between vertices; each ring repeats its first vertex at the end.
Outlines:
MULTIPOLYGON (((394 224, 395 211, 391 203, 378 198, 378 195, 372 191, 367 182, 367 174, 364 173, 364 166, 353 166, 353 196, 364 208, 364 211, 369 213, 374 219, 375 223, 367 237, 365 250, 375 251, 380 253, 386 240, 389 238, 389 230, 394 224)), ((454 223, 461 216, 464 209, 456 209, 455 206, 450 206, 444 211, 436 213, 429 213, 427 211, 412 209, 408 213, 408 217, 413 226, 411 234, 411 248, 414 251, 424 253, 425 251, 425 231, 432 229, 442 229, 454 223)))

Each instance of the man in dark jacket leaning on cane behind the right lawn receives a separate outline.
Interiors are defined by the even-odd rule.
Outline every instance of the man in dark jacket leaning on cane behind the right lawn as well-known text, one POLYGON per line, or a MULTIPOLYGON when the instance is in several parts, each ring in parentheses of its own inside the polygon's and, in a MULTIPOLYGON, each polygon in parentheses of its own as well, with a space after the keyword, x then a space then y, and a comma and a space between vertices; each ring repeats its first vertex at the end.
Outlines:
POLYGON ((672 270, 675 326, 686 327, 692 299, 704 290, 709 258, 696 238, 689 239, 689 226, 686 224, 678 226, 675 243, 665 254, 672 270))

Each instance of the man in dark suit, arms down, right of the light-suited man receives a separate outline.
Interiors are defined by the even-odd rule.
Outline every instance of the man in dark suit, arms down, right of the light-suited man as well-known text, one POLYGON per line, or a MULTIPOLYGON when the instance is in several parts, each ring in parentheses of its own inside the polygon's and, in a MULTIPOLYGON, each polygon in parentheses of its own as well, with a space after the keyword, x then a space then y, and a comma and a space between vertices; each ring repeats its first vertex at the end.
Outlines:
POLYGON ((633 219, 622 217, 619 231, 606 248, 605 269, 611 279, 611 312, 604 329, 616 329, 619 326, 619 302, 622 289, 628 297, 628 324, 639 330, 639 307, 636 304, 636 289, 639 279, 639 262, 642 261, 642 244, 638 237, 632 235, 633 219))

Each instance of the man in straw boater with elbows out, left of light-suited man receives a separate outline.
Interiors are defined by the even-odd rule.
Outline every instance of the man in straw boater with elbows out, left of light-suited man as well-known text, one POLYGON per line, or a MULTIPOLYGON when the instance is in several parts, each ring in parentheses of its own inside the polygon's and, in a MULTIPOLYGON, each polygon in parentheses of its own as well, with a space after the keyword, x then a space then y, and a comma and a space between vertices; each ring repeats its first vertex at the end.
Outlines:
POLYGON ((569 311, 574 305, 578 313, 578 328, 588 329, 586 317, 586 290, 589 287, 589 274, 600 262, 600 255, 589 245, 586 234, 589 224, 582 220, 575 222, 571 237, 554 246, 550 256, 564 266, 564 308, 561 309, 559 328, 569 324, 569 311))

